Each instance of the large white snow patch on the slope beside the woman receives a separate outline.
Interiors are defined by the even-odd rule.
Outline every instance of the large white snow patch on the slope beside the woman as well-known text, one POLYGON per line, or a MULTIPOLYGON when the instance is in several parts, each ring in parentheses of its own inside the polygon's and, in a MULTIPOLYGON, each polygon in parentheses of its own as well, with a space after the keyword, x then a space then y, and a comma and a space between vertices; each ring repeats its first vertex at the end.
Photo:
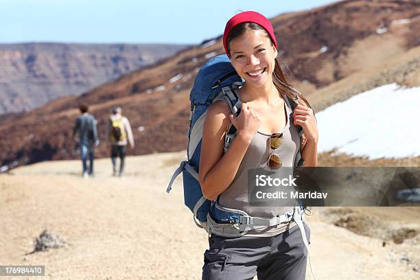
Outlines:
POLYGON ((329 106, 316 114, 318 152, 369 159, 420 156, 420 86, 386 84, 329 106))

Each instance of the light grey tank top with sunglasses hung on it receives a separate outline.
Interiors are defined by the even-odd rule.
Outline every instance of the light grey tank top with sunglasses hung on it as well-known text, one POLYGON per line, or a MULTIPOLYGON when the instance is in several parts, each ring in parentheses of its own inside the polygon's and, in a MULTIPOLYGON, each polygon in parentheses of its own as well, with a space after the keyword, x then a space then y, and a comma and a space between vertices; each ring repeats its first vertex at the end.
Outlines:
MULTIPOLYGON (((293 167, 294 159, 299 150, 299 134, 293 123, 293 112, 290 106, 284 106, 287 116, 287 123, 280 133, 283 133, 283 143, 275 150, 283 162, 284 167, 293 167)), ((270 156, 270 135, 261 132, 255 133, 242 162, 237 170, 235 178, 231 185, 219 196, 219 205, 231 209, 239 209, 248 213, 253 217, 272 218, 288 211, 292 211, 293 207, 261 207, 251 206, 248 202, 248 170, 259 167, 266 167, 268 157, 270 156)), ((260 226, 258 229, 248 231, 248 236, 270 237, 283 233, 284 231, 296 225, 294 222, 288 224, 280 224, 278 226, 260 226)))

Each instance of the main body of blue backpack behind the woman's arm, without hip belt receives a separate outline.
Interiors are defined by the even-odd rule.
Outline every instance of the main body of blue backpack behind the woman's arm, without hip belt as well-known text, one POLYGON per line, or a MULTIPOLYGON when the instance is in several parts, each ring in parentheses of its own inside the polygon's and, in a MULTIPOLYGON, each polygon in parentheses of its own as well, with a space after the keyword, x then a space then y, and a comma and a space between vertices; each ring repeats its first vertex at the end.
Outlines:
POLYGON ((242 78, 237 75, 226 55, 216 56, 202 66, 194 80, 189 95, 191 115, 189 117, 187 161, 182 161, 174 172, 167 187, 169 193, 175 178, 182 172, 185 205, 194 213, 194 221, 200 227, 207 222, 210 201, 203 195, 198 182, 200 165, 202 128, 207 110, 215 100, 229 100, 228 104, 235 115, 242 105, 237 95, 237 86, 242 78))

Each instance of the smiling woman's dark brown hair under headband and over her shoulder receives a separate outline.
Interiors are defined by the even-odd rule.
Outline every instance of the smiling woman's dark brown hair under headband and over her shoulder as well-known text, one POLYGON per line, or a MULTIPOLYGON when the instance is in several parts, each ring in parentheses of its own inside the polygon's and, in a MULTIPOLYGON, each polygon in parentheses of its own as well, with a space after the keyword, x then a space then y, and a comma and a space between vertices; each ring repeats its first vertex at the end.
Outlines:
MULTIPOLYGON (((231 50, 229 49, 229 43, 231 43, 231 40, 242 36, 247 30, 264 30, 266 33, 267 38, 270 39, 271 45, 274 46, 274 43, 272 42, 272 39, 270 35, 266 32, 264 27, 261 27, 261 25, 258 25, 257 23, 240 23, 232 28, 231 32, 229 32, 227 38, 226 38, 226 47, 230 56, 231 50)), ((296 103, 299 99, 303 100, 307 106, 309 106, 309 103, 305 99, 305 97, 302 96, 302 93, 300 93, 297 89, 294 89, 292 84, 288 82, 288 79, 286 78, 285 73, 283 72, 283 69, 281 69, 281 65, 279 60, 275 58, 275 69, 272 72, 272 82, 275 84, 275 87, 280 93, 284 93, 288 97, 292 98, 296 103)))

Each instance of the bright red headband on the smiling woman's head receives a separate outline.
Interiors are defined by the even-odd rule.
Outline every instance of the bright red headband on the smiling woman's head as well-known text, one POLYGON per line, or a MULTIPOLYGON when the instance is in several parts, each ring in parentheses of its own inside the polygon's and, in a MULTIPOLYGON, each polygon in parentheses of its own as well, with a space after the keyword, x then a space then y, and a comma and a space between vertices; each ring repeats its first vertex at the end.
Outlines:
POLYGON ((259 14, 257 12, 248 11, 248 12, 241 12, 240 14, 237 14, 233 16, 229 21, 226 23, 226 27, 224 27, 224 33, 223 33, 223 47, 224 51, 226 51, 226 54, 229 56, 227 51, 227 45, 226 40, 227 36, 229 35, 229 32, 235 27, 236 25, 239 25, 241 23, 257 23, 258 25, 261 25, 268 35, 270 35, 272 42, 275 44, 275 47, 277 49, 277 41, 276 36, 274 34, 274 30, 272 28, 272 25, 268 19, 263 16, 262 14, 259 14))

